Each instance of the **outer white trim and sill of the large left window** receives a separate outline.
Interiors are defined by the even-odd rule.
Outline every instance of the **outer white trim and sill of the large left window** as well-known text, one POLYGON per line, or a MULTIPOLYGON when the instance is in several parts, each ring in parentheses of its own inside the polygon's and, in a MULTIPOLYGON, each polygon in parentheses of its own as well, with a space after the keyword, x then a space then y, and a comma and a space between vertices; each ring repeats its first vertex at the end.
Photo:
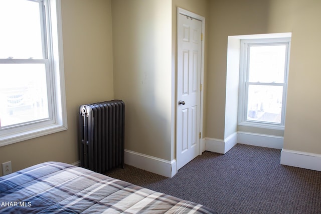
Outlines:
MULTIPOLYGON (((50 36, 52 44, 51 53, 52 56, 52 84, 54 84, 53 96, 54 99, 54 115, 53 123, 49 124, 38 124, 38 126, 31 127, 24 131, 11 132, 10 134, 4 134, 0 136, 0 147, 17 143, 24 140, 64 131, 68 129, 67 125, 67 108, 66 108, 66 95, 65 95, 65 78, 64 78, 64 57, 63 57, 63 37, 62 37, 62 18, 61 18, 61 0, 48 0, 45 3, 48 7, 47 15, 50 17, 51 29, 50 36)), ((49 42, 49 41, 47 41, 49 42)))

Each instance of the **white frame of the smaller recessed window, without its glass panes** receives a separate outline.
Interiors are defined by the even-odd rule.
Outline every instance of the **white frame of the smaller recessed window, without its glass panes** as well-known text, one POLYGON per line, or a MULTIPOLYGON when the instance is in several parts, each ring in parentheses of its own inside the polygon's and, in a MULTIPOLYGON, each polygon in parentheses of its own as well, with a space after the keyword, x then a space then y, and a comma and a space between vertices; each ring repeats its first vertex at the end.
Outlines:
POLYGON ((286 109, 286 95, 287 95, 287 79, 289 70, 290 59, 290 43, 291 38, 268 38, 268 39, 244 39, 240 40, 240 76, 239 76, 239 104, 238 104, 238 125, 252 126, 259 128, 279 129, 284 130, 285 124, 285 109, 286 109), (250 46, 262 46, 262 45, 286 45, 286 57, 284 68, 284 82, 283 83, 249 83, 248 73, 248 53, 250 46), (264 122, 254 121, 247 119, 247 94, 249 85, 275 85, 283 86, 282 97, 282 110, 281 110, 281 122, 264 122))

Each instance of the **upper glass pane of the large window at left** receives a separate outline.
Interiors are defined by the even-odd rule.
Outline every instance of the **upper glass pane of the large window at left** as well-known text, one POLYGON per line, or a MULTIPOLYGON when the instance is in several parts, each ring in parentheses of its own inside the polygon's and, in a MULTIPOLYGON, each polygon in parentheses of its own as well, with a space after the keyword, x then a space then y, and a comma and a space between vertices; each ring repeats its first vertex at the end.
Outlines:
POLYGON ((0 58, 43 59, 39 3, 0 0, 0 58))

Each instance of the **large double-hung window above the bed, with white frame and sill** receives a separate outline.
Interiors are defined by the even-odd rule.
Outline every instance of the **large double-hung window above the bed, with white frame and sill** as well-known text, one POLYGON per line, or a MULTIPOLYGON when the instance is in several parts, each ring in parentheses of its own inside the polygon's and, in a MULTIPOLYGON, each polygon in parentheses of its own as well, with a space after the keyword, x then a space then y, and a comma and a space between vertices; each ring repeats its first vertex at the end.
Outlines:
POLYGON ((67 128, 60 1, 0 0, 0 146, 67 128))

